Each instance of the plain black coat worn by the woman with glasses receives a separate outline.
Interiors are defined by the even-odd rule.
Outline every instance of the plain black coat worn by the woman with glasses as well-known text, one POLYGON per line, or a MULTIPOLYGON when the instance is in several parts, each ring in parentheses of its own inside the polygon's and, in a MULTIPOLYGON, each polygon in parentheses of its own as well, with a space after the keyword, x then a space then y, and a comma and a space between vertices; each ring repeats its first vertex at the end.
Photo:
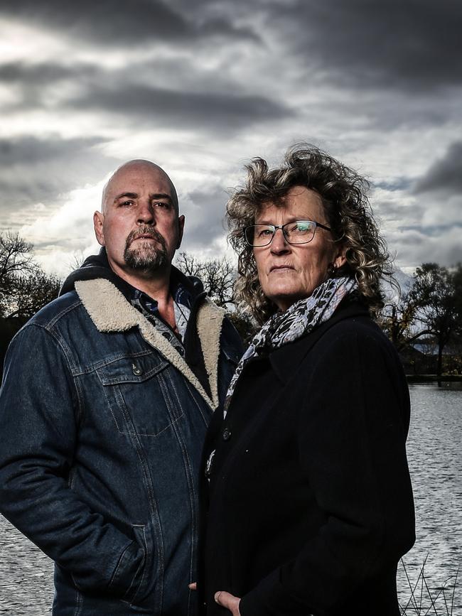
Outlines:
POLYGON ((359 303, 241 374, 205 457, 202 600, 242 616, 398 616, 396 568, 414 544, 409 391, 359 303))

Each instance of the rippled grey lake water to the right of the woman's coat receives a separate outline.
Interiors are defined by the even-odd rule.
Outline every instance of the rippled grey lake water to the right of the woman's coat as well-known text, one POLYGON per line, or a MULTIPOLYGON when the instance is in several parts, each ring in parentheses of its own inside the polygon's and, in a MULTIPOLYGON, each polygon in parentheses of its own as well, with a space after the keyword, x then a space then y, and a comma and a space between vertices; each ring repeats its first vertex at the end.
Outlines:
MULTIPOLYGON (((428 383, 412 384, 409 389, 412 422, 408 458, 417 540, 404 562, 416 581, 428 554, 425 576, 436 595, 436 588, 462 565, 462 387, 460 383, 444 383, 441 388, 428 383)), ((409 592, 403 571, 399 571, 398 580, 405 603, 409 592)), ((458 583, 456 588, 454 615, 462 613, 461 586, 458 583)), ((436 605, 441 605, 438 613, 446 614, 442 596, 436 605)))

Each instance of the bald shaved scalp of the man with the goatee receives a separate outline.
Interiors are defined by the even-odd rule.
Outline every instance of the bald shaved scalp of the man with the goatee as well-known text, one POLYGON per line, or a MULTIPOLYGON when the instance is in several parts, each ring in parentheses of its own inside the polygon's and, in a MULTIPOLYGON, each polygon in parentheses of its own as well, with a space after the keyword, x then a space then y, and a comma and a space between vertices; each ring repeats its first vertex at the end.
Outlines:
POLYGON ((118 167, 114 173, 112 173, 109 180, 107 180, 102 190, 102 213, 105 213, 107 205, 117 196, 117 194, 114 195, 114 193, 117 193, 117 190, 114 190, 114 188, 120 185, 121 181, 124 182, 125 178, 129 178, 131 184, 135 185, 137 182, 143 183, 146 181, 146 177, 155 178, 157 181, 161 181, 161 183, 168 185, 168 196, 171 198, 172 205, 175 207, 176 214, 178 215, 178 195, 176 194, 176 189, 172 180, 159 165, 151 163, 151 161, 144 161, 141 158, 124 163, 118 167))

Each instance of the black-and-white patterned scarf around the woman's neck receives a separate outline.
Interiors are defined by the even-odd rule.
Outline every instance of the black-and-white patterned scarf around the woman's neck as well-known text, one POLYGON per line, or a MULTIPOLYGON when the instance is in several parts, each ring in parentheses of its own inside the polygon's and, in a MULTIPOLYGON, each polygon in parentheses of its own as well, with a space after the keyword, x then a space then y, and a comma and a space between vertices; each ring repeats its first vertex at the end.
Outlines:
POLYGON ((278 312, 269 318, 262 329, 254 336, 249 348, 242 355, 237 365, 226 393, 223 418, 226 417, 227 409, 230 406, 237 379, 239 379, 245 364, 252 357, 279 349, 279 347, 311 332, 317 325, 321 325, 331 318, 338 304, 357 286, 358 283, 353 278, 346 276, 329 278, 316 287, 311 296, 297 301, 284 312, 278 312))

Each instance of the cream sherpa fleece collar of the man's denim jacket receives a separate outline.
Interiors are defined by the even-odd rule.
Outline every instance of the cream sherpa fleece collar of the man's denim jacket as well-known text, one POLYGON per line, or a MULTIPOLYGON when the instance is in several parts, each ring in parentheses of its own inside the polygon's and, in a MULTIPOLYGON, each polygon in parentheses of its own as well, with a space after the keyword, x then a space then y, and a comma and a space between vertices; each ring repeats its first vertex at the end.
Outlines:
POLYGON ((198 309, 196 327, 203 350, 212 399, 205 393, 198 378, 186 361, 161 335, 154 325, 124 298, 123 294, 109 280, 94 279, 75 282, 75 291, 82 300, 85 310, 100 332, 121 332, 139 327, 144 340, 161 352, 178 369, 190 384, 198 390, 212 409, 218 406, 218 355, 220 334, 225 310, 205 299, 198 309))

